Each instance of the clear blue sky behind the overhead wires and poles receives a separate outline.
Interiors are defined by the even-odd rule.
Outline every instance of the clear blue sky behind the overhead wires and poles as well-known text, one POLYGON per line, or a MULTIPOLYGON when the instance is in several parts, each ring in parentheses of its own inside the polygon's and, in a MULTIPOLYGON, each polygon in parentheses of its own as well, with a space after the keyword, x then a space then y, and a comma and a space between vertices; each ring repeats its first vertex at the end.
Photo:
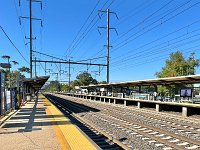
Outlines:
MULTIPOLYGON (((119 20, 115 14, 110 17, 110 26, 118 32, 117 35, 114 30, 110 31, 111 82, 155 78, 155 72, 161 70, 169 54, 177 50, 185 57, 196 52, 196 58, 200 58, 199 0, 43 0, 42 6, 41 11, 40 4, 33 3, 33 17, 43 20, 43 27, 39 21, 33 21, 33 37, 36 37, 33 50, 73 61, 106 56, 106 30, 98 32, 98 26, 106 26, 106 14, 100 14, 99 18, 98 10, 110 8, 116 12, 119 20)), ((21 0, 20 7, 18 0, 1 2, 0 25, 29 61, 29 41, 25 39, 29 37, 29 21, 23 19, 19 24, 19 16, 28 15, 26 0, 21 0)), ((12 69, 29 67, 2 31, 0 55, 10 55, 19 62, 12 69)), ((52 60, 34 53, 35 57, 52 60)), ((106 63, 106 59, 92 63, 106 63)), ((36 67, 38 76, 45 75, 44 64, 38 63, 36 67)), ((68 80, 68 65, 47 64, 46 68, 51 80, 57 77, 68 80)), ((72 80, 87 69, 97 80, 106 80, 105 67, 78 65, 72 65, 72 80)), ((200 73, 199 68, 196 73, 200 73)))

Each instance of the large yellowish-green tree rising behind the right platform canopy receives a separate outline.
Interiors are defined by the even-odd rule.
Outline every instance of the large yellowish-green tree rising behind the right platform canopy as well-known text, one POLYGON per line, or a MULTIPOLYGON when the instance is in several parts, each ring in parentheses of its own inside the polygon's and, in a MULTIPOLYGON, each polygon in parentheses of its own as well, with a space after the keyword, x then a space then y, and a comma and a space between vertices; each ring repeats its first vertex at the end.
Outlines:
MULTIPOLYGON (((180 51, 171 53, 169 59, 167 59, 165 62, 165 66, 160 72, 156 72, 156 77, 165 78, 194 75, 196 67, 198 67, 200 63, 200 59, 195 59, 194 55, 195 53, 191 53, 188 58, 184 58, 183 53, 180 51)), ((175 90, 179 89, 180 86, 185 85, 158 86, 158 92, 162 95, 173 96, 175 94, 175 90)))

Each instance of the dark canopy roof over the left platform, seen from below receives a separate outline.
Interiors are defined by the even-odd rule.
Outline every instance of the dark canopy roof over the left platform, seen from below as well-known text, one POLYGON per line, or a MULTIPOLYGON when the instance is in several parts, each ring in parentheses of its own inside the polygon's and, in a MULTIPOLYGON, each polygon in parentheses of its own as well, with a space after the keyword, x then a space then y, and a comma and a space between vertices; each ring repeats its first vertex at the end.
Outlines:
POLYGON ((26 78, 22 80, 22 83, 38 91, 42 88, 45 82, 49 79, 49 76, 40 76, 34 78, 26 78))

